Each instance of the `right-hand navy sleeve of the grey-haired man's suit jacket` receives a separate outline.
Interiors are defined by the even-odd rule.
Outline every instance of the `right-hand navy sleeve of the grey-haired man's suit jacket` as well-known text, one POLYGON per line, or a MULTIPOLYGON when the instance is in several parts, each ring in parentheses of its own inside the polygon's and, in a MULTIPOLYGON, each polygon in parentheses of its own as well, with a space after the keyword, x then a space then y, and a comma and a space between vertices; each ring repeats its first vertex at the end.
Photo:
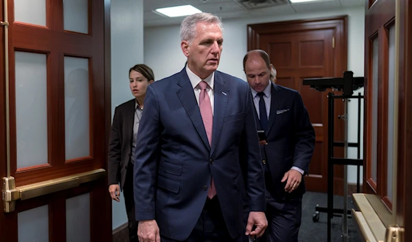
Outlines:
POLYGON ((242 167, 246 169, 243 173, 249 197, 249 210, 264 212, 266 210, 264 172, 261 163, 262 159, 260 158, 259 138, 256 132, 254 106, 249 85, 247 89, 247 114, 243 130, 244 138, 242 138, 242 144, 240 144, 240 147, 244 148, 242 156, 245 159, 242 158, 241 160, 246 162, 246 165, 242 167))

